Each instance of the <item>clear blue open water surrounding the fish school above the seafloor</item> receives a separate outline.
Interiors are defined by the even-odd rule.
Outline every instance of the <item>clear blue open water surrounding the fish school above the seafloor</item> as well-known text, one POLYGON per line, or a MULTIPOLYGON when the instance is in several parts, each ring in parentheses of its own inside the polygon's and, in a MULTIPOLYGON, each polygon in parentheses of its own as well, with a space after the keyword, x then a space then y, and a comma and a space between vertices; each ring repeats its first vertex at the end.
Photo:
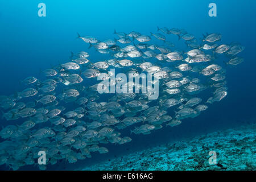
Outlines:
MULTIPOLYGON (((105 40, 117 38, 114 29, 150 35, 156 32, 156 26, 184 28, 196 38, 202 38, 206 32, 220 32, 222 43, 238 42, 245 46, 239 55, 245 61, 226 68, 228 96, 210 105, 199 117, 185 119, 182 125, 157 130, 154 135, 133 135, 133 141, 125 146, 109 146, 109 154, 93 154, 91 159, 75 164, 61 162, 49 169, 75 169, 169 140, 255 122, 255 12, 254 0, 0 1, 0 95, 22 90, 20 80, 28 76, 39 77, 40 70, 68 61, 70 51, 87 51, 89 58, 95 61, 110 58, 88 49, 88 44, 76 38, 77 32, 105 40), (46 17, 38 16, 40 2, 46 4, 46 17), (211 2, 217 5, 217 17, 208 15, 211 2)), ((177 42, 176 36, 167 38, 185 48, 177 42)), ((13 122, 1 119, 0 125, 15 124, 13 122)), ((127 130, 123 135, 129 133, 127 130)), ((6 167, 0 166, 0 169, 6 167)))

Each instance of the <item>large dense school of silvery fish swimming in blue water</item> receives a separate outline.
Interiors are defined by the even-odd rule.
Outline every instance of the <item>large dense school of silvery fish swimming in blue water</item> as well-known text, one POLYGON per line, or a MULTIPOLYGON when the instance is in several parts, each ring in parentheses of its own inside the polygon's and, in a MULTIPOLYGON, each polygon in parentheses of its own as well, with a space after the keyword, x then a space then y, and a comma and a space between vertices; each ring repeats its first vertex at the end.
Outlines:
MULTIPOLYGON (((75 163, 92 152, 105 154, 105 144, 125 144, 134 134, 180 125, 225 98, 226 68, 243 62, 237 54, 244 47, 220 43, 219 33, 197 40, 183 29, 163 27, 150 35, 114 31, 114 36, 101 42, 78 34, 89 48, 111 59, 91 60, 88 52, 72 53, 69 61, 43 70, 42 78, 20 81, 23 90, 0 96, 2 119, 9 123, 0 131, 0 165, 44 170, 61 159, 75 163), (177 37, 187 49, 176 49, 168 36, 177 37), (98 83, 113 74, 110 69, 134 77, 151 74, 159 80, 159 97, 149 100, 150 89, 143 94, 97 92, 98 83), (122 136, 124 129, 131 135, 122 136), (46 152, 46 165, 38 164, 39 151, 46 152)), ((110 85, 120 81, 117 77, 110 85)), ((139 86, 128 84, 132 90, 139 86)))

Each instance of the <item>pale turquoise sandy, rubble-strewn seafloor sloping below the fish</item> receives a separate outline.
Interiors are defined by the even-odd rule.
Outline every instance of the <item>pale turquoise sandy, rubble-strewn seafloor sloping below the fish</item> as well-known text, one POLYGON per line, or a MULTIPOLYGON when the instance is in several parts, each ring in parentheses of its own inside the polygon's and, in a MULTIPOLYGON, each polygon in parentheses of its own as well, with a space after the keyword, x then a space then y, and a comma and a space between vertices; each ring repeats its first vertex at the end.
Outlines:
POLYGON ((150 147, 76 170, 256 170, 256 124, 150 147), (217 165, 210 165, 216 151, 217 165))

